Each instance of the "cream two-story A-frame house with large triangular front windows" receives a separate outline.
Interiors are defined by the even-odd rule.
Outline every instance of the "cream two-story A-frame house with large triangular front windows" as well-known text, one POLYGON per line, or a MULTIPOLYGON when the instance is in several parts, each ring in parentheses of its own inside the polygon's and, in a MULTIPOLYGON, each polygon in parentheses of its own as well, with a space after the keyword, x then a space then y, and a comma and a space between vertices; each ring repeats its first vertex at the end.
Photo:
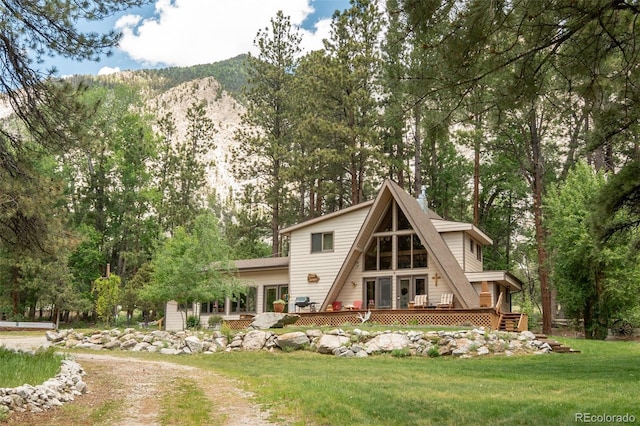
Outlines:
MULTIPOLYGON (((273 311, 280 298, 288 301, 289 312, 407 310, 420 295, 424 309, 448 297, 456 310, 500 301, 500 310, 509 312, 511 293, 521 290, 510 273, 483 270, 483 247, 492 244, 484 232, 442 219, 390 180, 372 201, 281 233, 288 237, 288 257, 236 261, 247 293, 194 303, 192 312, 240 319, 273 311), (296 306, 301 297, 312 304, 296 306)), ((167 329, 182 328, 175 303, 167 304, 165 316, 167 329)))

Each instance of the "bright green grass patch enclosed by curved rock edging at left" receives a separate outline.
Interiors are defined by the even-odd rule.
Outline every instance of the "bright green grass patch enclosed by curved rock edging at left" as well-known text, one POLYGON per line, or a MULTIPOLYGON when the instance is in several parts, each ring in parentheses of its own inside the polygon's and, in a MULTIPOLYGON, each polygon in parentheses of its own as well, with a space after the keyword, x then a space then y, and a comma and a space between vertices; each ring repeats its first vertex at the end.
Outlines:
POLYGON ((58 374, 62 359, 63 357, 57 355, 53 348, 31 354, 15 352, 0 346, 0 387, 42 384, 58 374))

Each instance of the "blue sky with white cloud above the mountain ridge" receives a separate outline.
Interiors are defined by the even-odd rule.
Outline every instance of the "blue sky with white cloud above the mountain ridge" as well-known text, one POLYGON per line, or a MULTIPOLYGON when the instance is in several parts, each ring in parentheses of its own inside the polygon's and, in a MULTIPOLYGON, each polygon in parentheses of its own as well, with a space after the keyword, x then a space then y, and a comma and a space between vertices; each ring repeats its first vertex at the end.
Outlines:
POLYGON ((83 28, 121 31, 112 56, 81 63, 55 58, 45 65, 65 76, 217 62, 255 52, 256 33, 278 10, 301 28, 302 47, 309 51, 322 47, 334 11, 348 7, 349 0, 155 0, 83 28))

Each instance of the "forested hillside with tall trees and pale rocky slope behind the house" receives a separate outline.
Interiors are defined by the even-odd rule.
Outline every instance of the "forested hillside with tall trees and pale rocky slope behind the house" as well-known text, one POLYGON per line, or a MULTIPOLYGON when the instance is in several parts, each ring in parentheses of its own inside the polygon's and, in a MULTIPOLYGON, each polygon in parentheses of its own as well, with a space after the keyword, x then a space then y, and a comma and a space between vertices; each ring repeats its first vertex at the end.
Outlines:
MULTIPOLYGON (((190 264, 202 270, 220 253, 285 255, 283 227, 388 177, 485 230, 485 267, 522 278, 545 332, 557 294, 560 315, 602 338, 640 317, 639 15, 605 0, 355 0, 314 52, 278 14, 254 56, 17 79, 39 96, 7 92, 19 113, 0 185, 20 201, 0 204, 2 309, 95 312, 107 263, 120 304, 149 309, 181 244, 215 245, 198 246, 213 256, 190 264)), ((223 284, 189 297, 239 291, 223 284)))

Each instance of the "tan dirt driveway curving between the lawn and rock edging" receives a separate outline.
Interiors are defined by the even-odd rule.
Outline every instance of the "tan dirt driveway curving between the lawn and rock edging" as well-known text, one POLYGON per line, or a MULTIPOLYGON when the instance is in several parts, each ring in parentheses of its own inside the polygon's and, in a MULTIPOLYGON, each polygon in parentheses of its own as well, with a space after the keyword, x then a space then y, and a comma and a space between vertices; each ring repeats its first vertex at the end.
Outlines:
MULTIPOLYGON (((6 338, 0 345, 34 349, 41 338, 6 338)), ((71 406, 44 413, 14 413, 8 425, 158 425, 161 401, 176 380, 198 385, 210 401, 211 424, 271 425, 268 412, 250 401, 251 395, 221 375, 164 361, 146 361, 101 353, 74 354, 87 372, 89 392, 71 406), (113 407, 116 408, 113 408, 113 407), (105 407, 112 407, 105 410, 105 407), (102 411, 107 414, 101 417, 102 411), (111 414, 110 411, 112 411, 111 414), (115 414, 115 417, 114 417, 115 414)))

